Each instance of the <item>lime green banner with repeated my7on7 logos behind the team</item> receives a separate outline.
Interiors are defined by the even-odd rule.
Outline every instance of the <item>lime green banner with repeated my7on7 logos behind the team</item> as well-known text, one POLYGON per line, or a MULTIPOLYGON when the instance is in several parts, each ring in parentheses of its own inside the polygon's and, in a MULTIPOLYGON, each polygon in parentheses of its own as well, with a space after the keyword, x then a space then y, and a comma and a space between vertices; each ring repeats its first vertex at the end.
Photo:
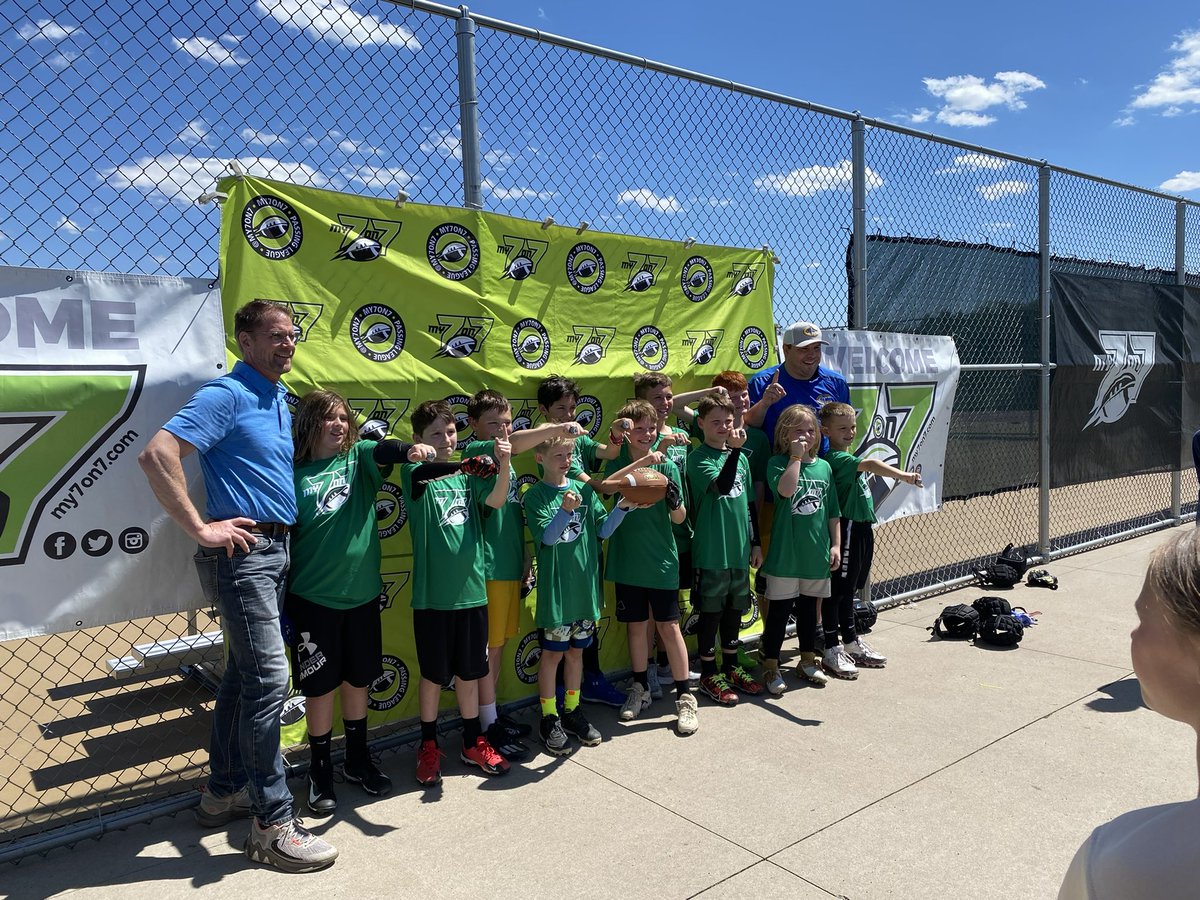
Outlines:
MULTIPOLYGON (((536 386, 552 373, 580 385, 578 420, 595 436, 632 396, 636 372, 662 372, 679 392, 724 370, 752 376, 775 361, 769 251, 397 206, 250 176, 220 188, 228 194, 221 272, 230 353, 239 306, 256 298, 287 304, 301 332, 289 391, 340 391, 372 438, 410 439, 409 409, 446 398, 464 443, 466 403, 482 388, 509 397, 515 427, 538 425, 536 386)), ((514 461, 523 485, 534 480, 526 457, 514 461)), ((398 476, 384 485, 376 511, 385 672, 371 692, 372 724, 415 715, 418 677, 398 476)), ((502 702, 534 690, 533 602, 506 648, 502 702)), ((604 614, 601 662, 628 667, 611 590, 604 614)))

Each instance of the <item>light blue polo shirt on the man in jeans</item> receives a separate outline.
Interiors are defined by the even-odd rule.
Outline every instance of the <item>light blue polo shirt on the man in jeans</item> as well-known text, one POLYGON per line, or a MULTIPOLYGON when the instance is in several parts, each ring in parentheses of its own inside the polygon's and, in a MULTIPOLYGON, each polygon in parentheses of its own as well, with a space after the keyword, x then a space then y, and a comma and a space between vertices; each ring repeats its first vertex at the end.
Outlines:
POLYGON ((292 410, 284 397, 282 384, 239 361, 162 426, 199 451, 209 518, 295 523, 292 410))

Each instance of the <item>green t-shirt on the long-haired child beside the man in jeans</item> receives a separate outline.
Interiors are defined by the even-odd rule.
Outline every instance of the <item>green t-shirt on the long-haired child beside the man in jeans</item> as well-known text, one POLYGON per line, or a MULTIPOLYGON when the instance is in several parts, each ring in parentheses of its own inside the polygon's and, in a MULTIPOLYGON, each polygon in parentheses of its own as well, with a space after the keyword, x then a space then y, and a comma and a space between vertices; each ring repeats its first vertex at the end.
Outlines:
POLYGON ((383 590, 374 512, 383 473, 374 449, 374 440, 359 440, 343 456, 295 467, 298 517, 288 571, 293 594, 349 610, 383 590))

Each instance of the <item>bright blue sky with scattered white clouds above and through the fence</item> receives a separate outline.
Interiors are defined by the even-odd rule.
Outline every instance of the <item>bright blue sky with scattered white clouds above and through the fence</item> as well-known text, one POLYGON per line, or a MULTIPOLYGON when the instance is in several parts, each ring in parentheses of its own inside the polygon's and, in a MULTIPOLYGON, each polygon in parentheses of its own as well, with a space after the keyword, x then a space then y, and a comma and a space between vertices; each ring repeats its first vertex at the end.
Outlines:
MULTIPOLYGON (((1200 200, 1194 2, 473 10, 1200 200)), ((230 160, 268 178, 461 203, 452 32, 378 0, 0 2, 12 144, 0 154, 0 263, 215 274, 217 215, 196 198, 230 160)), ((782 262, 776 305, 824 324, 844 316, 846 122, 487 30, 479 59, 487 209, 767 242, 782 262)), ((1033 169, 880 131, 868 150, 869 229, 1036 244, 1033 169)), ((1055 200, 1074 204, 1055 252, 1171 265, 1170 204, 1073 188, 1055 200)), ((1198 227, 1194 214, 1189 235, 1198 227)), ((1188 264, 1200 266, 1200 246, 1188 264)))

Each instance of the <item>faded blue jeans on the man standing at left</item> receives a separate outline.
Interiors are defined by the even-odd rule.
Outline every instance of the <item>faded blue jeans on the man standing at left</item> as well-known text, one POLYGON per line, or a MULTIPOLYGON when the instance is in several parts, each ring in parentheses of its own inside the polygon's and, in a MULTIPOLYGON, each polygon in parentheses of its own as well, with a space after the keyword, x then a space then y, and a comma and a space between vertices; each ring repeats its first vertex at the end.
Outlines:
POLYGON ((288 697, 288 661, 280 631, 288 575, 288 538, 256 535, 248 553, 199 547, 196 570, 205 599, 221 612, 226 671, 212 709, 209 791, 227 797, 250 788, 264 826, 293 816, 280 754, 280 713, 288 697))

